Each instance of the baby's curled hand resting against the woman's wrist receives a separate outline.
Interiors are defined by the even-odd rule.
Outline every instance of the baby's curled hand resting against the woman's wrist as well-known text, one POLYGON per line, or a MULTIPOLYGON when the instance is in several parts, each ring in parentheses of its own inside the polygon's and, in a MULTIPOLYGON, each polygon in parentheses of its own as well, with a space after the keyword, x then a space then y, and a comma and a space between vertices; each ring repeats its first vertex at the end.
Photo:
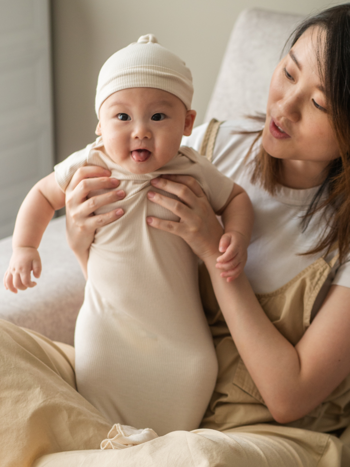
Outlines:
POLYGON ((216 267, 223 269, 221 277, 226 277, 227 282, 236 279, 245 267, 247 261, 247 238, 239 232, 228 232, 220 239, 219 251, 224 253, 217 258, 216 267))

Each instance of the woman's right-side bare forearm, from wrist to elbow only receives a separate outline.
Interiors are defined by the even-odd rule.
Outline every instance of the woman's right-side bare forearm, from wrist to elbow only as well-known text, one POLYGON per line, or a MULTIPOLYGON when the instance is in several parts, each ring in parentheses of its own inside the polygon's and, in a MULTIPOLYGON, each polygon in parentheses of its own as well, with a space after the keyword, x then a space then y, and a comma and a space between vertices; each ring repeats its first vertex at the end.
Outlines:
POLYGON ((315 399, 307 396, 296 348, 267 318, 245 274, 227 283, 215 268, 214 256, 205 264, 219 306, 268 409, 280 423, 302 417, 314 407, 315 399))

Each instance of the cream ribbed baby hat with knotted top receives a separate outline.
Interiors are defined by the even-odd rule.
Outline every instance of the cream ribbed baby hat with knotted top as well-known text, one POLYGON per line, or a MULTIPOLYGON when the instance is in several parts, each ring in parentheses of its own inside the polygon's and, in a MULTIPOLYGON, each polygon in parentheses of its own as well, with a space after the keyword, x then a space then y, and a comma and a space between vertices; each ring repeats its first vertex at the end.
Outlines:
POLYGON ((124 49, 118 50, 102 66, 97 82, 95 110, 113 92, 132 87, 152 87, 171 92, 191 108, 192 75, 185 63, 158 44, 153 34, 141 35, 124 49))

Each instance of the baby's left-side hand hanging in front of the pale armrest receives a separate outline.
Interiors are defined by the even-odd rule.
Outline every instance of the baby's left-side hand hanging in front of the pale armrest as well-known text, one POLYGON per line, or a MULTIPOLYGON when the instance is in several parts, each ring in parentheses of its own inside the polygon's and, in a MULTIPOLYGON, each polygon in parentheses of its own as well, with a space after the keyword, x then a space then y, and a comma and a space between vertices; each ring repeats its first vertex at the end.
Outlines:
POLYGON ((17 293, 17 289, 34 287, 36 282, 31 281, 31 271, 35 277, 40 277, 42 263, 38 250, 32 247, 15 247, 4 276, 5 289, 17 293))

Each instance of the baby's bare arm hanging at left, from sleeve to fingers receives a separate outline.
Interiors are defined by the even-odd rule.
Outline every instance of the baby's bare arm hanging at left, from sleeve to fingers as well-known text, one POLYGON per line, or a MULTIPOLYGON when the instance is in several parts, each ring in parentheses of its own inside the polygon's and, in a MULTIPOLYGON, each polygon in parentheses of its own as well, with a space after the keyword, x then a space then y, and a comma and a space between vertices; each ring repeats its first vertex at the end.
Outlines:
POLYGON ((54 173, 42 178, 29 191, 17 214, 12 239, 13 254, 4 276, 6 289, 17 292, 36 283, 31 281, 41 273, 39 247, 49 221, 56 209, 64 206, 64 193, 59 188, 54 173))

